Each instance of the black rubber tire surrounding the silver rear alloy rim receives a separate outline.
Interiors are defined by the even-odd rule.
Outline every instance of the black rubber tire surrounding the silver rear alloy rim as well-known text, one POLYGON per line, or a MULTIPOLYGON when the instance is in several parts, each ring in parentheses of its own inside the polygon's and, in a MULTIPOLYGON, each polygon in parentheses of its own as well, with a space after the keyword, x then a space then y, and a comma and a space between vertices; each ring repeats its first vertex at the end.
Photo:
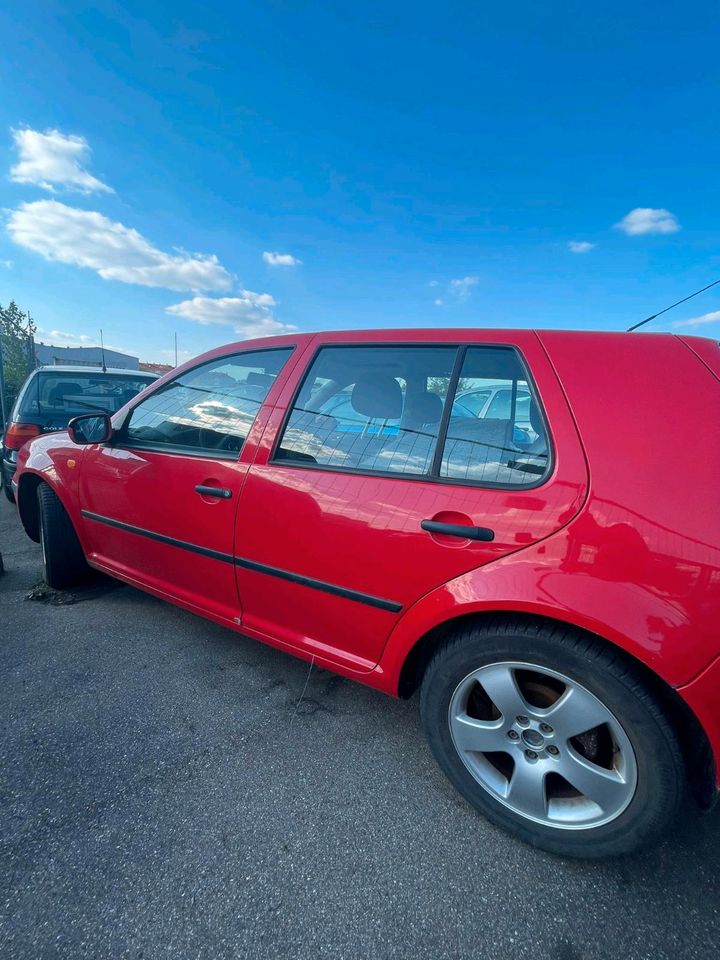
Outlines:
MULTIPOLYGON (((489 674, 479 676, 485 677, 489 674)), ((479 694, 468 694, 466 701, 467 715, 475 717, 480 715, 475 707, 479 701, 472 700, 473 695, 476 698, 480 696, 482 700, 482 686, 479 694)), ((487 704, 488 701, 483 703, 487 704)), ((532 621, 498 617, 492 622, 468 626, 454 634, 439 648, 428 665, 422 683, 420 710, 425 734, 438 764, 465 799, 493 823, 526 843, 551 853, 579 858, 630 853, 667 831, 685 796, 687 777, 678 739, 641 672, 621 651, 561 625, 553 627, 532 621), (528 816, 511 809, 499 800, 490 788, 482 785, 483 777, 488 780, 487 774, 483 773, 484 770, 490 770, 487 763, 498 763, 500 769, 509 771, 506 774, 508 786, 504 788, 509 790, 517 763, 538 762, 528 759, 528 754, 532 754, 532 751, 525 749, 526 743, 517 744, 517 730, 506 732, 506 717, 492 702, 489 702, 489 707, 483 706, 482 709, 489 709, 491 717, 499 714, 500 719, 481 719, 481 723, 497 722, 501 725, 502 737, 514 738, 507 752, 510 760, 505 760, 504 753, 473 754, 469 752, 472 746, 465 747, 463 756, 471 765, 473 757, 480 758, 474 768, 479 771, 476 775, 471 772, 462 759, 460 750, 455 747, 450 711, 452 704, 453 717, 457 716, 456 704, 460 694, 456 691, 477 690, 477 685, 472 688, 475 681, 468 680, 469 675, 490 664, 502 664, 503 666, 494 670, 503 671, 508 669, 504 664, 509 663, 511 674, 518 682, 520 679, 527 682, 527 677, 532 681, 533 676, 538 676, 514 667, 513 664, 517 662, 536 665, 540 674, 543 668, 562 674, 580 688, 582 696, 589 691, 592 694, 590 699, 594 701, 597 698, 601 707, 610 711, 613 720, 617 721, 622 733, 627 736, 627 741, 622 742, 629 741, 632 748, 627 752, 635 763, 634 785, 624 788, 628 797, 625 801, 627 805, 610 822, 598 823, 597 826, 588 825, 583 829, 569 829, 558 823, 549 824, 548 818, 545 818, 545 821, 543 818, 529 819, 528 816), (461 683, 465 685, 461 686, 461 683), (520 748, 519 753, 517 747, 520 748), (505 768, 502 764, 505 764, 505 768)), ((527 718, 523 716, 522 719, 527 718)), ((454 720, 453 723, 457 721, 454 720)), ((598 742, 598 736, 612 739, 610 727, 604 728, 604 733, 603 728, 597 729, 600 733, 595 734, 595 743, 598 742)), ((583 734, 583 737, 587 736, 588 734, 583 734)), ((504 743, 503 739, 503 746, 504 743)), ((563 740, 558 737, 556 743, 568 753, 578 745, 577 738, 563 740)), ((547 751, 546 746, 542 749, 547 751)), ((613 758, 619 755, 615 752, 616 749, 617 744, 608 748, 613 758)), ((560 752, 555 746, 551 746, 550 751, 555 754, 560 752)), ((537 757, 537 753, 534 756, 537 757)), ((548 756, 547 752, 541 759, 543 762, 550 761, 550 767, 552 766, 553 757, 548 756)), ((616 775, 614 769, 611 768, 610 772, 613 776, 616 775)), ((537 772, 533 775, 537 776, 537 772)), ((494 773, 491 771, 490 781, 492 777, 494 773)), ((557 783, 562 786, 563 782, 549 780, 542 773, 540 777, 545 797, 544 809, 549 811, 550 788, 547 785, 557 783)), ((567 785, 567 781, 564 783, 567 785)), ((578 799, 587 803, 585 797, 578 799)), ((569 801, 560 801, 561 804, 567 802, 569 801)), ((553 800, 553 803, 557 801, 553 800)), ((557 810, 559 807, 555 806, 553 809, 557 810)))

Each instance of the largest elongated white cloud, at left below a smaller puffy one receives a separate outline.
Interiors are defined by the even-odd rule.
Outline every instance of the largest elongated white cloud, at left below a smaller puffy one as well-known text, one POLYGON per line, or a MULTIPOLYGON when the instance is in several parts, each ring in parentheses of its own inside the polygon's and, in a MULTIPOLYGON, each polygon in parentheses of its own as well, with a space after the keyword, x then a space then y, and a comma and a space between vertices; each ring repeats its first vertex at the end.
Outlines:
POLYGON ((216 256, 165 253, 137 230, 57 200, 21 204, 10 211, 7 229, 18 246, 46 260, 95 270, 104 280, 183 291, 232 287, 216 256))

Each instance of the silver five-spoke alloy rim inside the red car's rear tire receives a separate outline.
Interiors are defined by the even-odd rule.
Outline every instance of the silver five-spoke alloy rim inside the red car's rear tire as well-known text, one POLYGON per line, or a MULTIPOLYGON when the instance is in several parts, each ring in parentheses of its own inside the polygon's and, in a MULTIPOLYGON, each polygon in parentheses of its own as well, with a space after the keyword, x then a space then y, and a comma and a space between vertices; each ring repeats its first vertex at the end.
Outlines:
POLYGON ((620 722, 555 670, 516 661, 480 667, 456 687, 448 720, 480 786, 535 823, 598 827, 635 794, 637 761, 620 722))

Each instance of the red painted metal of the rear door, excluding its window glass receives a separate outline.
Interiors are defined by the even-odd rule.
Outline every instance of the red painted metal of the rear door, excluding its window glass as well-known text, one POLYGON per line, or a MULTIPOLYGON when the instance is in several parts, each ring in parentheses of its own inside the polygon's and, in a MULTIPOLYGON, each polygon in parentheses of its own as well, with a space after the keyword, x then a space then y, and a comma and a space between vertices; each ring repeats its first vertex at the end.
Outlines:
MULTIPOLYGON (((447 332, 443 339, 452 343, 457 336, 447 332)), ((415 337, 429 339, 427 333, 415 337)), ((494 331, 485 339, 506 343, 508 338, 494 331)), ((396 333, 387 332, 375 334, 373 342, 397 340, 396 333)), ((321 341, 354 343, 365 337, 327 334, 321 341)), ((305 586, 240 566, 243 626, 371 670, 398 619, 420 597, 550 536, 578 512, 587 493, 587 467, 560 385, 532 332, 515 333, 512 342, 532 366, 543 403, 554 411, 555 465, 539 489, 483 489, 402 474, 358 475, 269 462, 292 399, 293 384, 288 384, 243 490, 236 553, 252 563, 387 598, 399 610, 363 606, 349 614, 345 599, 324 596, 318 602, 305 586), (495 539, 470 543, 430 536, 420 528, 424 519, 488 526, 495 539)))

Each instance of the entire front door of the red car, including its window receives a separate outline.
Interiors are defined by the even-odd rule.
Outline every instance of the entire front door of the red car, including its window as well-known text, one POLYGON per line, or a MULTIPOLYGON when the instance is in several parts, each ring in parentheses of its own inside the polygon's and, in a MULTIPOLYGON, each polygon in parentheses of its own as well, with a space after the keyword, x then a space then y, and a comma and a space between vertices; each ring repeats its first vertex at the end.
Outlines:
POLYGON ((223 355, 158 387, 111 444, 84 451, 83 541, 95 565, 215 618, 240 616, 234 520, 253 424, 292 347, 223 355))

